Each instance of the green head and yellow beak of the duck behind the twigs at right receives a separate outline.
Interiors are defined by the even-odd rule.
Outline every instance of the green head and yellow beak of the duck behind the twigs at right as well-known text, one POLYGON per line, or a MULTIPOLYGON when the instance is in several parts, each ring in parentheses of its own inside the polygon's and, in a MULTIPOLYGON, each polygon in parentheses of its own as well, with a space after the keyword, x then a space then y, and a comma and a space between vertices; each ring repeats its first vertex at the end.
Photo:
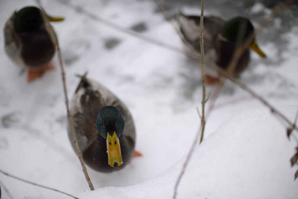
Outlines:
MULTIPOLYGON (((232 43, 238 42, 238 39, 243 43, 251 34, 254 34, 254 26, 251 21, 245 17, 235 17, 228 20, 221 30, 221 36, 232 43)), ((261 57, 266 57, 265 53, 258 47, 255 38, 253 39, 250 48, 261 57)))

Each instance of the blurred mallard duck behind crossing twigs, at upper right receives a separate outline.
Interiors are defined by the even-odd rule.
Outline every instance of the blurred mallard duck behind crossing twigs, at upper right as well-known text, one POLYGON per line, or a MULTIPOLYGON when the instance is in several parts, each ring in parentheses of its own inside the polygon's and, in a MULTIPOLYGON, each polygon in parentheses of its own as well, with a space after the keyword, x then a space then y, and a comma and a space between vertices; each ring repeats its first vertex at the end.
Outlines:
MULTIPOLYGON (((197 53, 201 53, 200 19, 200 16, 186 16, 184 14, 179 14, 175 17, 175 22, 178 24, 182 40, 187 45, 191 46, 197 53)), ((204 52, 207 54, 214 50, 215 55, 213 55, 213 61, 222 69, 226 69, 229 61, 231 61, 233 57, 237 42, 243 44, 253 32, 254 26, 251 21, 245 17, 238 16, 225 21, 216 16, 204 16, 204 52), (244 32, 240 33, 240 31, 243 30, 244 32), (238 35, 240 35, 240 39, 238 39, 238 35), (241 35, 243 35, 242 38, 241 35)), ((261 57, 266 57, 258 47, 255 38, 252 41, 250 48, 261 57)), ((250 51, 247 49, 236 64, 232 76, 238 78, 241 72, 247 68, 249 60, 250 51)), ((205 75, 206 83, 216 83, 219 80, 218 77, 218 74, 217 77, 205 75)))

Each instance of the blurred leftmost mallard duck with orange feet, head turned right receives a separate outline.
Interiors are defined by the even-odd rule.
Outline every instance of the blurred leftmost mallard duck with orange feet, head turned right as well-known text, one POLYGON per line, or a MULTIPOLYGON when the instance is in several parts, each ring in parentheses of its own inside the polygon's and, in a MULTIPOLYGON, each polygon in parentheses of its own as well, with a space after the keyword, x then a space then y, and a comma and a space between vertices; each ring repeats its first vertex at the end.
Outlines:
POLYGON ((15 11, 4 26, 5 52, 20 67, 28 68, 27 80, 39 78, 46 70, 54 69, 51 60, 57 46, 57 36, 50 17, 37 7, 15 11))

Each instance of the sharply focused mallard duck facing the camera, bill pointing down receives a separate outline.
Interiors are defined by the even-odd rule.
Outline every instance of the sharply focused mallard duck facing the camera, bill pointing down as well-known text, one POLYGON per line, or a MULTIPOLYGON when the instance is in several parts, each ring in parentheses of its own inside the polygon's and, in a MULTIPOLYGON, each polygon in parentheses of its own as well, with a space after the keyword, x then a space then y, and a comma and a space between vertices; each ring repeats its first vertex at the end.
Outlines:
MULTIPOLYGON (((123 168, 133 155, 136 142, 134 121, 128 108, 100 83, 80 76, 70 113, 84 162, 99 172, 123 168)), ((71 132, 68 127, 72 147, 71 132)))

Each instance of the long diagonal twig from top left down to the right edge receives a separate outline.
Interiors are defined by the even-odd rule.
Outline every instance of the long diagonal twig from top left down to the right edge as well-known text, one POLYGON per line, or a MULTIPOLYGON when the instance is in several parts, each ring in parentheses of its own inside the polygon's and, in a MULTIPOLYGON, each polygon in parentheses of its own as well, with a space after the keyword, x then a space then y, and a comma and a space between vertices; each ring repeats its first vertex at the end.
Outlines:
MULTIPOLYGON (((198 55, 196 55, 194 53, 185 52, 184 50, 182 50, 180 48, 177 48, 175 46, 171 46, 169 44, 165 44, 165 43, 163 43, 161 41, 155 40, 153 38, 145 37, 145 36, 139 35, 137 33, 134 33, 132 31, 129 31, 129 30, 127 30, 127 29, 125 29, 125 28, 117 25, 117 24, 114 24, 114 23, 112 23, 110 21, 107 21, 107 20, 105 20, 103 18, 100 18, 100 17, 98 17, 98 16, 96 16, 96 15, 94 15, 92 13, 89 13, 88 11, 84 10, 81 7, 77 7, 75 5, 72 5, 69 1, 63 1, 63 0, 57 0, 57 1, 59 1, 62 4, 65 4, 66 6, 71 7, 74 10, 77 10, 78 12, 80 12, 82 14, 85 14, 86 16, 89 16, 90 18, 92 18, 92 19, 94 19, 96 21, 99 21, 102 24, 105 24, 106 26, 111 27, 111 28, 113 28, 113 29, 115 29, 115 30, 117 30, 119 32, 122 32, 122 33, 125 33, 127 35, 130 35, 130 36, 139 38, 139 39, 141 39, 143 41, 146 41, 148 43, 154 44, 156 46, 163 47, 163 48, 165 48, 167 50, 170 50, 170 51, 173 51, 173 52, 176 52, 176 53, 179 53, 179 54, 183 54, 183 55, 185 55, 187 57, 200 60, 200 57, 198 57, 198 55)), ((288 3, 288 4, 290 4, 290 3, 288 3)), ((226 71, 224 71, 221 68, 219 68, 218 66, 216 66, 216 64, 213 63, 212 61, 207 60, 205 58, 204 63, 206 65, 208 65, 208 67, 212 68, 213 70, 216 70, 221 76, 229 79, 234 84, 236 84, 238 87, 242 88, 243 90, 245 90, 246 92, 248 92, 250 95, 252 95, 254 98, 258 99, 263 105, 265 105, 266 107, 268 107, 271 110, 272 113, 274 113, 278 117, 282 118, 286 123, 288 123, 289 125, 292 125, 292 122, 287 117, 285 117, 285 115, 283 115, 281 112, 279 112, 277 109, 275 109, 271 104, 269 104, 260 95, 258 95, 257 93, 255 93, 254 91, 252 91, 251 89, 249 89, 249 87, 247 87, 245 84, 241 83, 240 81, 236 80, 235 78, 232 78, 226 71)), ((206 118, 207 118, 207 115, 206 115, 206 118)), ((294 129, 296 131, 298 131, 298 127, 297 126, 294 129)))

